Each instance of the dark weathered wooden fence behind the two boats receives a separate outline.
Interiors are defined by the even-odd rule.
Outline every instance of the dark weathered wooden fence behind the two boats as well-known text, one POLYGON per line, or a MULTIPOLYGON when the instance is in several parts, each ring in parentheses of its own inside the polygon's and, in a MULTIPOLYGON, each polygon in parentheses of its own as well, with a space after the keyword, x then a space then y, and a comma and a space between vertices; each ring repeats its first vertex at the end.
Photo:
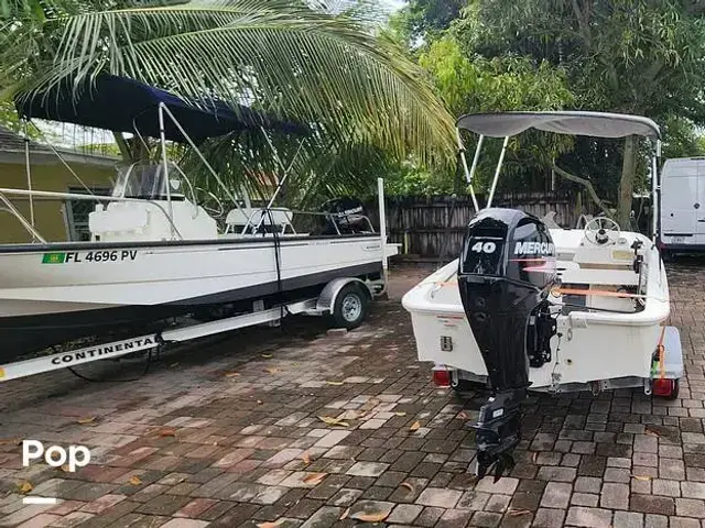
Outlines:
MULTIPOLYGON (((581 212, 576 195, 552 193, 527 193, 496 195, 496 207, 521 209, 538 217, 555 211, 554 220, 562 227, 575 227, 581 212)), ((487 201, 477 197, 480 207, 487 201)), ((388 196, 387 231, 390 242, 402 245, 402 253, 421 257, 437 257, 444 253, 445 261, 459 254, 463 235, 475 209, 469 196, 388 196), (445 244, 445 248, 444 248, 445 244)), ((377 217, 377 204, 370 204, 368 212, 377 217)), ((378 224, 378 219, 372 220, 378 224)))

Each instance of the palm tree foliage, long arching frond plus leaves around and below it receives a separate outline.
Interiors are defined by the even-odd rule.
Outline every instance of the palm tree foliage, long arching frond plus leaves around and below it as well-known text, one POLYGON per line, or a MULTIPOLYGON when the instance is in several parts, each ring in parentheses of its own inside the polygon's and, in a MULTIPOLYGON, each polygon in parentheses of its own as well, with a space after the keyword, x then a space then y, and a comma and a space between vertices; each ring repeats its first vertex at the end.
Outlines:
MULTIPOLYGON (((420 67, 370 21, 369 4, 333 12, 295 0, 141 3, 0 0, 11 14, 0 24, 4 97, 108 72, 182 96, 247 101, 315 123, 295 172, 308 185, 318 170, 319 190, 365 185, 369 168, 390 156, 445 164, 453 155, 452 116, 420 67), (354 160, 357 172, 341 160, 354 160)), ((239 185, 241 156, 229 160, 235 150, 224 145, 231 139, 210 147, 239 185)))

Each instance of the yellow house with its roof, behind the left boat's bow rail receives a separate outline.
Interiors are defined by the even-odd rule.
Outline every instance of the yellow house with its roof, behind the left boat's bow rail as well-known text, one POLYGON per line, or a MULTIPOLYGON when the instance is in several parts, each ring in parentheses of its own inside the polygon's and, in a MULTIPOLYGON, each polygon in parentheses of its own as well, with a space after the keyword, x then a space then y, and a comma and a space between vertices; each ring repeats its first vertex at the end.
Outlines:
MULTIPOLYGON (((91 193, 106 195, 112 187, 119 160, 51 147, 30 141, 30 174, 33 190, 87 194, 78 176, 91 193), (76 173, 66 168, 62 158, 76 173)), ((0 188, 28 189, 24 138, 0 125, 0 188)), ((31 218, 26 197, 9 196, 12 205, 31 218)), ((47 242, 87 240, 88 213, 95 202, 33 198, 34 227, 47 242)), ((32 237, 0 199, 0 243, 30 242, 32 237)))

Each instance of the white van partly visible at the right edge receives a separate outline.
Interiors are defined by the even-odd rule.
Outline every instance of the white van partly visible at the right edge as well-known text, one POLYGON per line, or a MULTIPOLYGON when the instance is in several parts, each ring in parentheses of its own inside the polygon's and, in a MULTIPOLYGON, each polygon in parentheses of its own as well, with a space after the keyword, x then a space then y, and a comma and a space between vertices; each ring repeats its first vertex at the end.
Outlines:
POLYGON ((665 161, 660 209, 659 243, 664 253, 705 251, 705 157, 665 161))

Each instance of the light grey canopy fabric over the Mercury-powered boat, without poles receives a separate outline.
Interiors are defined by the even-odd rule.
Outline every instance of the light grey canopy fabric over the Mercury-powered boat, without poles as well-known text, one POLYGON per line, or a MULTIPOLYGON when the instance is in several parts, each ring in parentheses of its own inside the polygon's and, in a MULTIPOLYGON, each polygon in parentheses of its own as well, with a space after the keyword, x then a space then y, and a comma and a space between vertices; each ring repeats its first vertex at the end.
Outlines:
POLYGON ((490 138, 517 135, 529 129, 557 134, 592 135, 594 138, 625 138, 643 135, 659 139, 659 125, 649 118, 606 112, 498 112, 468 113, 457 125, 476 134, 490 138))

